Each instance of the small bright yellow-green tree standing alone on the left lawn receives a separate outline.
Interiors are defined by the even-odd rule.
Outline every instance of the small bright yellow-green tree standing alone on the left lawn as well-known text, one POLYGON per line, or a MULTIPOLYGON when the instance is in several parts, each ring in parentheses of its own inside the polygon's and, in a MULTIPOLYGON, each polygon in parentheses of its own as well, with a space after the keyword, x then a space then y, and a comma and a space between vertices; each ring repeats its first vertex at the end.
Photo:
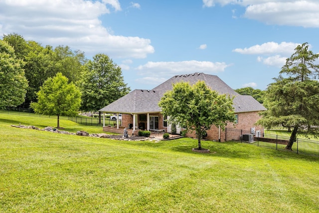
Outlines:
POLYGON ((38 102, 31 103, 34 112, 57 116, 57 128, 60 128, 61 116, 75 116, 81 104, 80 90, 62 73, 49 77, 37 92, 38 102))

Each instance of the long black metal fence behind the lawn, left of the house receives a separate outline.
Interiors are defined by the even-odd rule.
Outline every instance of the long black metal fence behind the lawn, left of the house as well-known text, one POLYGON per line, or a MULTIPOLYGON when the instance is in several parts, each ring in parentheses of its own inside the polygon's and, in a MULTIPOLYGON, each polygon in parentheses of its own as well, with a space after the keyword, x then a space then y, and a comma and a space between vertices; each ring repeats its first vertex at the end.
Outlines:
MULTIPOLYGON (((50 115, 41 115, 35 114, 33 109, 31 108, 20 108, 20 107, 10 107, 6 110, 1 110, 0 113, 11 114, 11 115, 25 115, 25 116, 33 116, 33 117, 43 117, 43 118, 57 118, 57 116, 50 115)), ((103 116, 103 115, 102 115, 103 116)), ((76 116, 76 117, 68 117, 68 116, 60 116, 60 119, 70 120, 76 122, 78 124, 83 124, 87 126, 103 126, 103 117, 101 118, 101 123, 99 124, 98 117, 89 117, 89 116, 76 116)), ((116 121, 110 120, 110 118, 105 118, 105 125, 116 125, 116 121)), ((119 120, 119 125, 122 126, 122 121, 119 120)))

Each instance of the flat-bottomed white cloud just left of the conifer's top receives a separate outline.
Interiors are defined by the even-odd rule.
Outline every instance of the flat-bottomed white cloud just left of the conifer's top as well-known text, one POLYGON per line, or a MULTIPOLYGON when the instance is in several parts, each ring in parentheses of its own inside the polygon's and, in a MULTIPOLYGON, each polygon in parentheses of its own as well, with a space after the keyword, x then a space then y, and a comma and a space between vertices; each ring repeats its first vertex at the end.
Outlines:
POLYGON ((295 48, 301 45, 300 43, 293 42, 267 42, 261 45, 254 45, 251 47, 245 48, 236 48, 233 52, 238 52, 241 54, 274 54, 274 53, 283 53, 283 54, 292 54, 295 52, 295 48))

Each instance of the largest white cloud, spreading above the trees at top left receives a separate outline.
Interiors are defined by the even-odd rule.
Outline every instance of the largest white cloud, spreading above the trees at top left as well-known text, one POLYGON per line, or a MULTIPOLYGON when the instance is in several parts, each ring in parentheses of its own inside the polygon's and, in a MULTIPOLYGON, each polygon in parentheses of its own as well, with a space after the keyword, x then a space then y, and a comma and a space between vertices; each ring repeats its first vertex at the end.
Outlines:
POLYGON ((0 34, 16 32, 43 45, 68 45, 86 54, 145 58, 154 52, 147 38, 114 35, 99 17, 121 10, 118 0, 0 1, 0 34), (19 15, 17 15, 19 14, 19 15))

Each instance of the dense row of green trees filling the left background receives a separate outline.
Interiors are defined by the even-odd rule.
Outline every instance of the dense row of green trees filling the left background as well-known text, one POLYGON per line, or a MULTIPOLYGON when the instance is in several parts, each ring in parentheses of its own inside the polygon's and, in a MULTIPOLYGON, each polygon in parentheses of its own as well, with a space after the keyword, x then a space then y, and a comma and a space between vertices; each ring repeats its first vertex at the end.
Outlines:
POLYGON ((32 107, 38 113, 53 113, 53 109, 48 109, 49 103, 41 109, 36 103, 43 105, 55 95, 54 103, 61 107, 62 99, 70 99, 70 93, 77 94, 73 100, 76 110, 53 110, 71 116, 78 110, 97 111, 130 92, 130 88, 121 68, 106 54, 96 54, 88 60, 81 50, 63 45, 42 46, 10 33, 0 39, 0 91, 0 109, 32 107), (70 84, 73 89, 67 91, 70 87, 61 84, 53 87, 52 82, 70 84))

